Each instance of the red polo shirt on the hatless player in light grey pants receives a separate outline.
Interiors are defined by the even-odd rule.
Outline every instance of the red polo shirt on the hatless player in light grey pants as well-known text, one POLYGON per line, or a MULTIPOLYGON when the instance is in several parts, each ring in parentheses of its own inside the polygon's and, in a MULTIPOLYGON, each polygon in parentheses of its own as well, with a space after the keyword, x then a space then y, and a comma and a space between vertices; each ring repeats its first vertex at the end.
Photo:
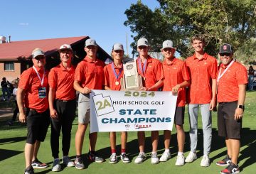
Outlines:
POLYGON ((209 104, 213 94, 212 80, 216 79, 217 60, 207 53, 201 60, 193 55, 186 59, 186 66, 191 77, 188 104, 209 104))

